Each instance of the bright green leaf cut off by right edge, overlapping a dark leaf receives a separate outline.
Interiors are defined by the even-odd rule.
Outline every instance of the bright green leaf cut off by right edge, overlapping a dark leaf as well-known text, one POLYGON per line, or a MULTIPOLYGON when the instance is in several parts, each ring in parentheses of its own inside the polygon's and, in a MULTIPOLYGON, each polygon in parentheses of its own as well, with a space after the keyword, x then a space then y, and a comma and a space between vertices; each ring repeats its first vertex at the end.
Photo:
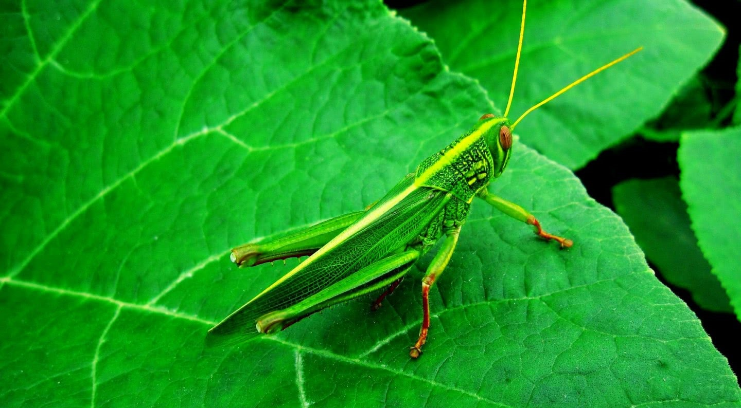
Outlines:
POLYGON ((702 253, 731 298, 741 320, 741 266, 736 237, 741 228, 741 127, 682 134, 679 185, 702 253))

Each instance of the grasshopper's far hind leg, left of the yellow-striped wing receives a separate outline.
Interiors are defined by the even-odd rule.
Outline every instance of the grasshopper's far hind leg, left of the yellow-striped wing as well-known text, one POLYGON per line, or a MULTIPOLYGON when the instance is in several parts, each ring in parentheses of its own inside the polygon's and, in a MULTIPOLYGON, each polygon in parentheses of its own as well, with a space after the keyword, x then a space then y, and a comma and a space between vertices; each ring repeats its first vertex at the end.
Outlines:
POLYGON ((364 213, 365 211, 356 211, 340 215, 278 238, 240 245, 232 250, 231 260, 240 267, 252 267, 279 259, 311 255, 364 213))

